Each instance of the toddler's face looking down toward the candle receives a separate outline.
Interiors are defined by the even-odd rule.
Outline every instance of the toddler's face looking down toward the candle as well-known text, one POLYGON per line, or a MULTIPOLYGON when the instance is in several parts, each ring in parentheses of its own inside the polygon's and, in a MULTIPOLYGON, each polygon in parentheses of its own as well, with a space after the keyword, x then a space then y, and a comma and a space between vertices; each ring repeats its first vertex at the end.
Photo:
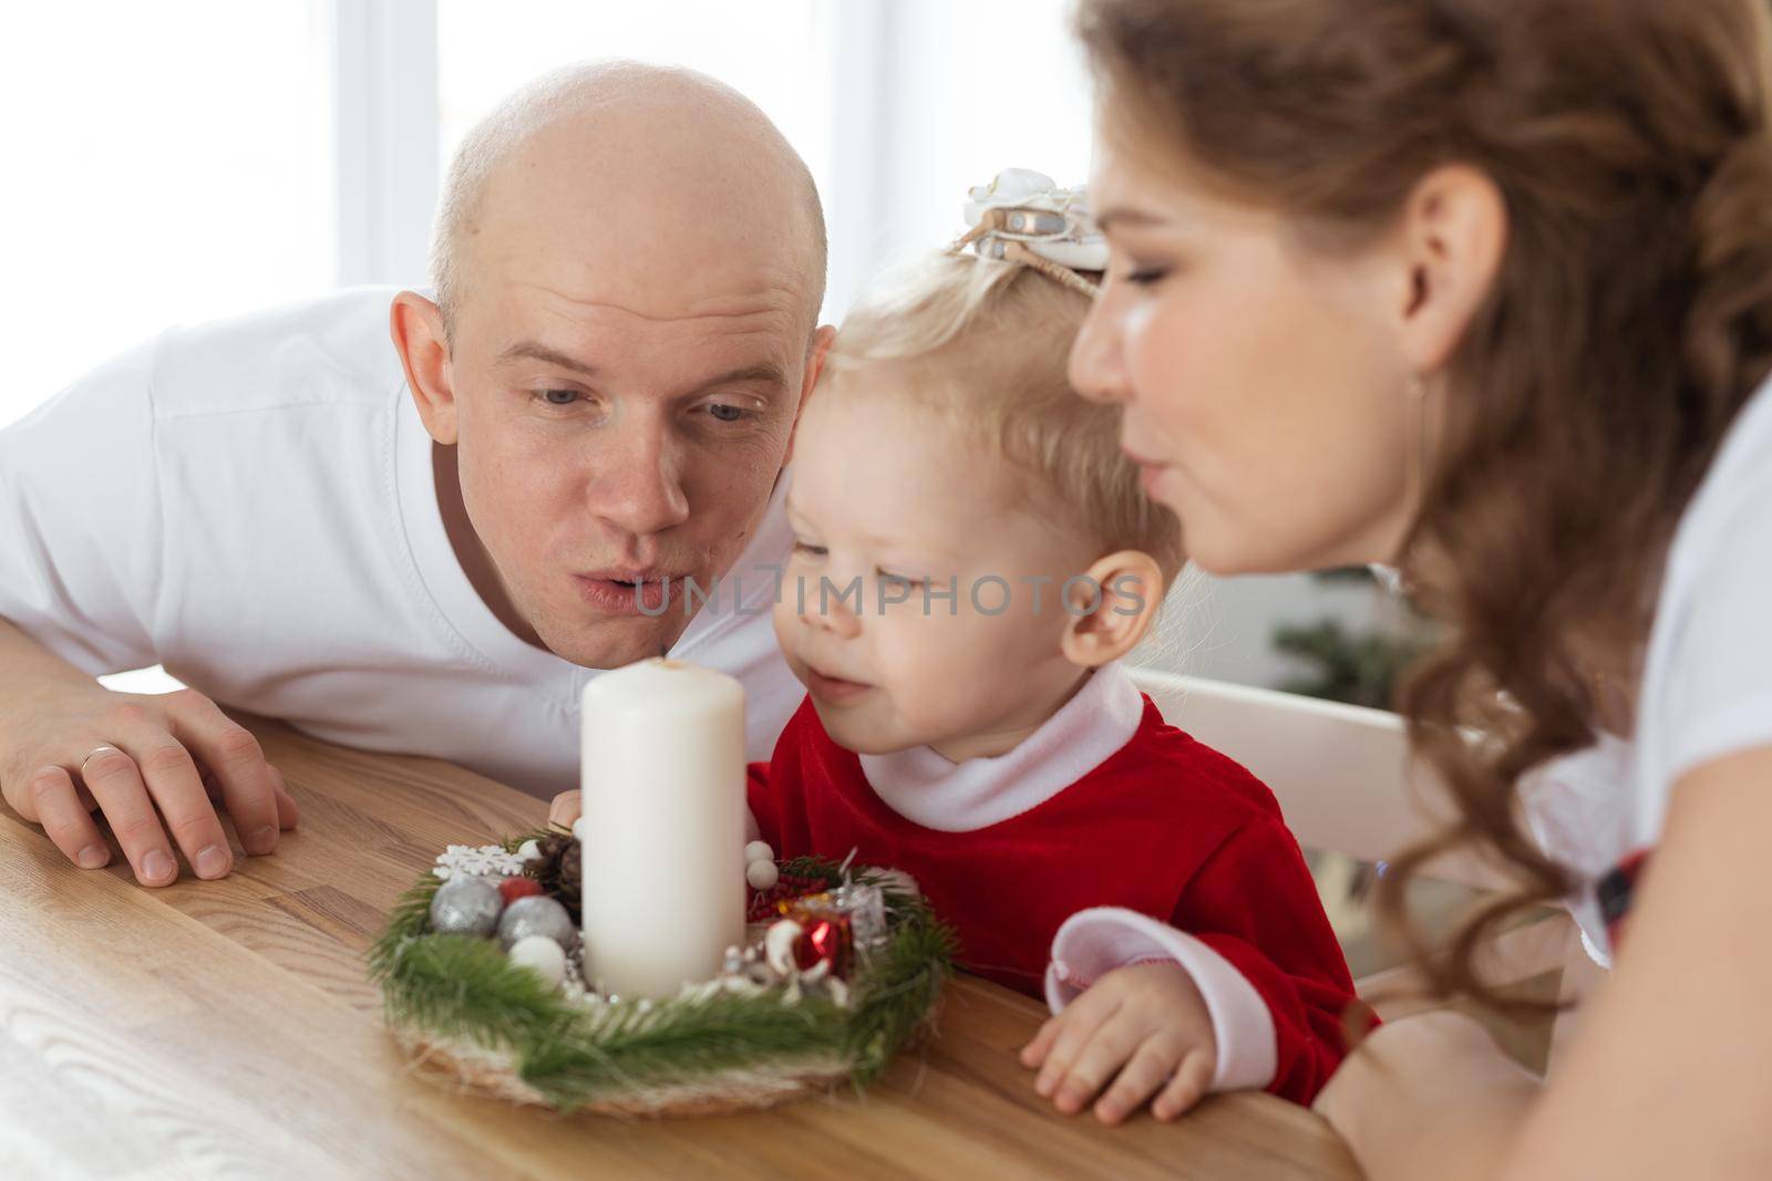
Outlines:
POLYGON ((1061 652, 1060 590, 1099 554, 893 379, 886 367, 851 375, 868 384, 806 407, 776 636, 851 751, 999 754, 1083 675, 1061 652))

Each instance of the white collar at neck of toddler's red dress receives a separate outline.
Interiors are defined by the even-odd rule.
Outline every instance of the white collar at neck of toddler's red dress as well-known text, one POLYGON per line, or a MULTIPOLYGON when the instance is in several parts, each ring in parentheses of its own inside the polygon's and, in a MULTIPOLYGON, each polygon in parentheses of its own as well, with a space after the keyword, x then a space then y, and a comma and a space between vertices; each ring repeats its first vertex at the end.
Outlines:
POLYGON ((858 758, 874 793, 905 820, 971 832, 1044 804, 1100 767, 1132 740, 1143 715, 1143 694, 1113 662, 1006 754, 953 763, 925 745, 858 758))

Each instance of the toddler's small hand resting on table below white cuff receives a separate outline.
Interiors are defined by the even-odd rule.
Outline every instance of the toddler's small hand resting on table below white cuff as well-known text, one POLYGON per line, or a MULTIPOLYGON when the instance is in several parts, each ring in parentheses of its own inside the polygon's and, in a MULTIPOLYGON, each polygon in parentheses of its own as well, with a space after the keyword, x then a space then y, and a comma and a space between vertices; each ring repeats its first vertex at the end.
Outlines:
POLYGON ((1033 1089, 1067 1115, 1100 1094, 1095 1117, 1116 1124, 1157 1096, 1150 1110, 1168 1121, 1212 1085, 1217 1041, 1182 965, 1134 963, 1102 976, 1042 1025, 1021 1062, 1038 1068, 1033 1089))

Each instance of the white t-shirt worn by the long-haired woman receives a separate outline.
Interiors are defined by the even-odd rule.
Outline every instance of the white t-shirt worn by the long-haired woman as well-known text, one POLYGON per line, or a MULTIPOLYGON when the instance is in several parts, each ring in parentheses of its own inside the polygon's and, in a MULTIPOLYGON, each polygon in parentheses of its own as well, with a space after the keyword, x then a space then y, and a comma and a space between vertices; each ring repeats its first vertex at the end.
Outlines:
MULTIPOLYGON (((1636 735, 1602 735, 1545 765, 1527 814, 1591 887, 1660 841, 1683 774, 1761 745, 1772 745, 1772 381, 1737 414, 1667 551, 1636 735)), ((1609 960, 1593 891, 1572 910, 1589 951, 1609 960)))

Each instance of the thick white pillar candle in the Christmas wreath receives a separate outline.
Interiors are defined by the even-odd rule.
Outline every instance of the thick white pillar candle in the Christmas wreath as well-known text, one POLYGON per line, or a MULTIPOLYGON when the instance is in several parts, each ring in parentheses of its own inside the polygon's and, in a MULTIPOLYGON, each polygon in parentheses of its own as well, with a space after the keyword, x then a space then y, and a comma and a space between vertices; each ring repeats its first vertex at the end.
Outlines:
POLYGON ((670 997, 744 942, 744 689, 650 659, 592 678, 583 710, 585 974, 670 997))

